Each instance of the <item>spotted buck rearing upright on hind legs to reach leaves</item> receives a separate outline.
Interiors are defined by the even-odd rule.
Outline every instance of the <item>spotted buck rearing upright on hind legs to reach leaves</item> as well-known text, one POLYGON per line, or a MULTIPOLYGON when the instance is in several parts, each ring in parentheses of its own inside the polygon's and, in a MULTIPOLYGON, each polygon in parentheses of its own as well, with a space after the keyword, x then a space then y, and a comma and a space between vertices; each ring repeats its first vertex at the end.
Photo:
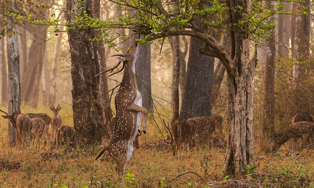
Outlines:
MULTIPOLYGON (((131 48, 122 55, 114 55, 119 56, 117 57, 119 63, 115 68, 122 61, 122 69, 125 67, 122 82, 115 98, 116 123, 108 146, 101 149, 95 158, 95 160, 98 160, 105 153, 109 153, 116 161, 116 172, 119 175, 119 181, 122 180, 125 165, 132 157, 132 143, 137 133, 141 130, 143 119, 143 132, 146 133, 147 110, 142 107, 142 95, 136 85, 135 76, 135 62, 138 59, 138 52, 139 45, 137 42, 134 42, 131 48)), ((110 70, 113 70, 113 68, 105 70, 102 73, 110 70)))

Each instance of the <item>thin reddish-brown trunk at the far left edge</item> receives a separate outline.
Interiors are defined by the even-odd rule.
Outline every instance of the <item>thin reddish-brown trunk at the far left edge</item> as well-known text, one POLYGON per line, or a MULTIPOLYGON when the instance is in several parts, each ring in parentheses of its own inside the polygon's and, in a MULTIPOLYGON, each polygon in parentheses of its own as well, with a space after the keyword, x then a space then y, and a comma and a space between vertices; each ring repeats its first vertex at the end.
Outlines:
POLYGON ((8 73, 4 55, 4 37, 0 39, 1 102, 8 102, 8 73))

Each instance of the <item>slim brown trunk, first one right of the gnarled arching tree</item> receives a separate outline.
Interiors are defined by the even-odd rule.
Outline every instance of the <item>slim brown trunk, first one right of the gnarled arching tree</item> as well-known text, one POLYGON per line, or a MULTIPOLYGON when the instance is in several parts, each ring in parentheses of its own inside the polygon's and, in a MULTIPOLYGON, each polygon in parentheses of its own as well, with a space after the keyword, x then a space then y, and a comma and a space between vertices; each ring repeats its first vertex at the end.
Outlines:
MULTIPOLYGON (((274 7, 271 6, 271 1, 268 3, 268 10, 271 11, 274 7)), ((273 16, 269 22, 273 22, 273 16)), ((264 75, 264 121, 263 133, 272 136, 274 133, 274 112, 275 112, 275 30, 271 30, 270 39, 266 40, 265 44, 265 75, 264 75)))

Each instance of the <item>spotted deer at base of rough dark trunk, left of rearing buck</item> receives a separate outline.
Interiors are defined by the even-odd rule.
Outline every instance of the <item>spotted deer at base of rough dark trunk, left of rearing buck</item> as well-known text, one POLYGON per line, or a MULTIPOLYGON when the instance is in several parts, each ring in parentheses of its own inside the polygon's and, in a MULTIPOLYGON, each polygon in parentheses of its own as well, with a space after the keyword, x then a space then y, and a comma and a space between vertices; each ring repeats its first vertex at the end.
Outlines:
MULTIPOLYGON (((76 118, 76 111, 74 111, 74 118, 78 121, 78 119, 76 118)), ((84 112, 85 113, 85 112, 84 112)), ((62 146, 65 147, 65 153, 67 154, 67 159, 68 159, 68 155, 69 155, 69 149, 73 148, 74 151, 76 152, 77 156, 78 156, 78 140, 82 137, 84 131, 86 130, 86 118, 87 118, 87 111, 86 111, 86 115, 82 116, 82 121, 78 121, 80 124, 80 127, 78 128, 73 128, 73 127, 69 127, 66 125, 62 125, 58 131, 57 131, 57 150, 61 149, 62 146)), ((79 157, 79 156, 78 156, 79 157)), ((60 151, 58 152, 58 167, 60 165, 60 151)))

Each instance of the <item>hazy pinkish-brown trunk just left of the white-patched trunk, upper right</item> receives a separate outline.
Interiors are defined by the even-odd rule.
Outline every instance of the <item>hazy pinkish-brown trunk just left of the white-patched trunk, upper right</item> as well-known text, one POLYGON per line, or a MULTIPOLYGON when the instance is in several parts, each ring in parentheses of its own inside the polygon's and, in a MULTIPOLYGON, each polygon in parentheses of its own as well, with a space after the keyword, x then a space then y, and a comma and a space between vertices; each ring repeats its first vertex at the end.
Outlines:
MULTIPOLYGON (((285 6, 286 10, 291 9, 290 3, 281 1, 282 6, 285 6)), ((278 53, 284 57, 289 56, 289 34, 290 34, 290 28, 289 28, 289 15, 287 14, 279 14, 278 19, 278 39, 279 43, 282 43, 282 45, 278 45, 278 53), (286 45, 287 47, 284 47, 286 45)), ((273 38, 275 39, 275 38, 273 38)))

